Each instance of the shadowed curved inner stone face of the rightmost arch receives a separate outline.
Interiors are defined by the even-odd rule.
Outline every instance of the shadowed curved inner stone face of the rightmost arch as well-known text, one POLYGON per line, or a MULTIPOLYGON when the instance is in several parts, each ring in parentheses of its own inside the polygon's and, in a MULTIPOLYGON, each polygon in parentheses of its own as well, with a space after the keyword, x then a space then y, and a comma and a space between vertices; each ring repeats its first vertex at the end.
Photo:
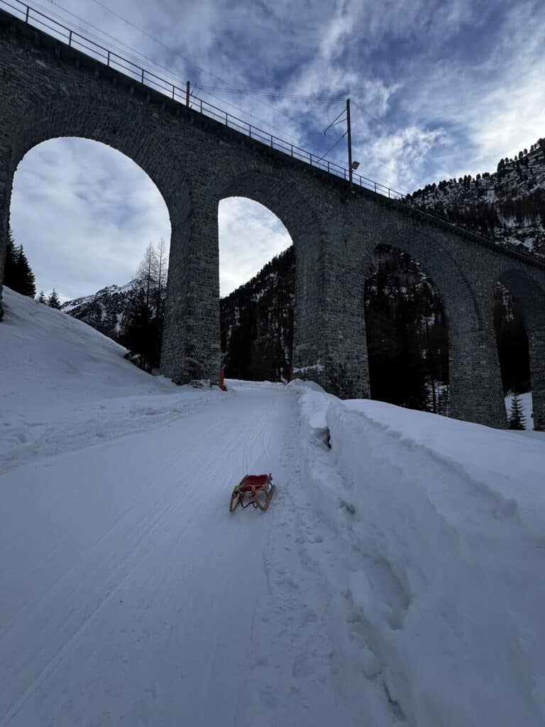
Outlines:
POLYGON ((527 271, 504 267, 497 281, 512 293, 522 310, 528 338, 533 426, 545 430, 545 288, 527 271))

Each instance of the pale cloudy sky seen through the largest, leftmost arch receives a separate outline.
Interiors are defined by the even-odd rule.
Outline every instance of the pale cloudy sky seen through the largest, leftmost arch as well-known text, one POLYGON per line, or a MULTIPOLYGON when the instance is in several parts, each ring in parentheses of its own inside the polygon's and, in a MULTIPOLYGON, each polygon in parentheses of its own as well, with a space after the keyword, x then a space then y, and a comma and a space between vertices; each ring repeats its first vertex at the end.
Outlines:
POLYGON ((25 153, 14 175, 9 217, 15 240, 25 244, 36 273, 44 276, 39 287, 55 284, 72 298, 128 283, 145 246, 159 236, 170 240, 168 208, 148 174, 112 147, 81 137, 47 140, 25 153), (41 201, 34 206, 36 195, 41 201), (90 247, 84 230, 92 235, 90 247), (61 280, 58 244, 64 251, 61 280), (92 263, 89 255, 105 252, 106 244, 110 250, 100 269, 91 265, 80 279, 82 256, 92 263))

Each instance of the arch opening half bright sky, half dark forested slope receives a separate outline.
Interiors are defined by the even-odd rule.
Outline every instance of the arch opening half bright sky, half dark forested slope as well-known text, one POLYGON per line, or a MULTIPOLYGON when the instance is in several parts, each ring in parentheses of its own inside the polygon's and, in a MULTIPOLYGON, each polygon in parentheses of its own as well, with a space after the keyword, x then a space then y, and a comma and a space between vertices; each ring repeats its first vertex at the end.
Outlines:
POLYGON ((276 214, 249 197, 222 198, 218 225, 225 376, 287 381, 294 334, 291 236, 276 214))

